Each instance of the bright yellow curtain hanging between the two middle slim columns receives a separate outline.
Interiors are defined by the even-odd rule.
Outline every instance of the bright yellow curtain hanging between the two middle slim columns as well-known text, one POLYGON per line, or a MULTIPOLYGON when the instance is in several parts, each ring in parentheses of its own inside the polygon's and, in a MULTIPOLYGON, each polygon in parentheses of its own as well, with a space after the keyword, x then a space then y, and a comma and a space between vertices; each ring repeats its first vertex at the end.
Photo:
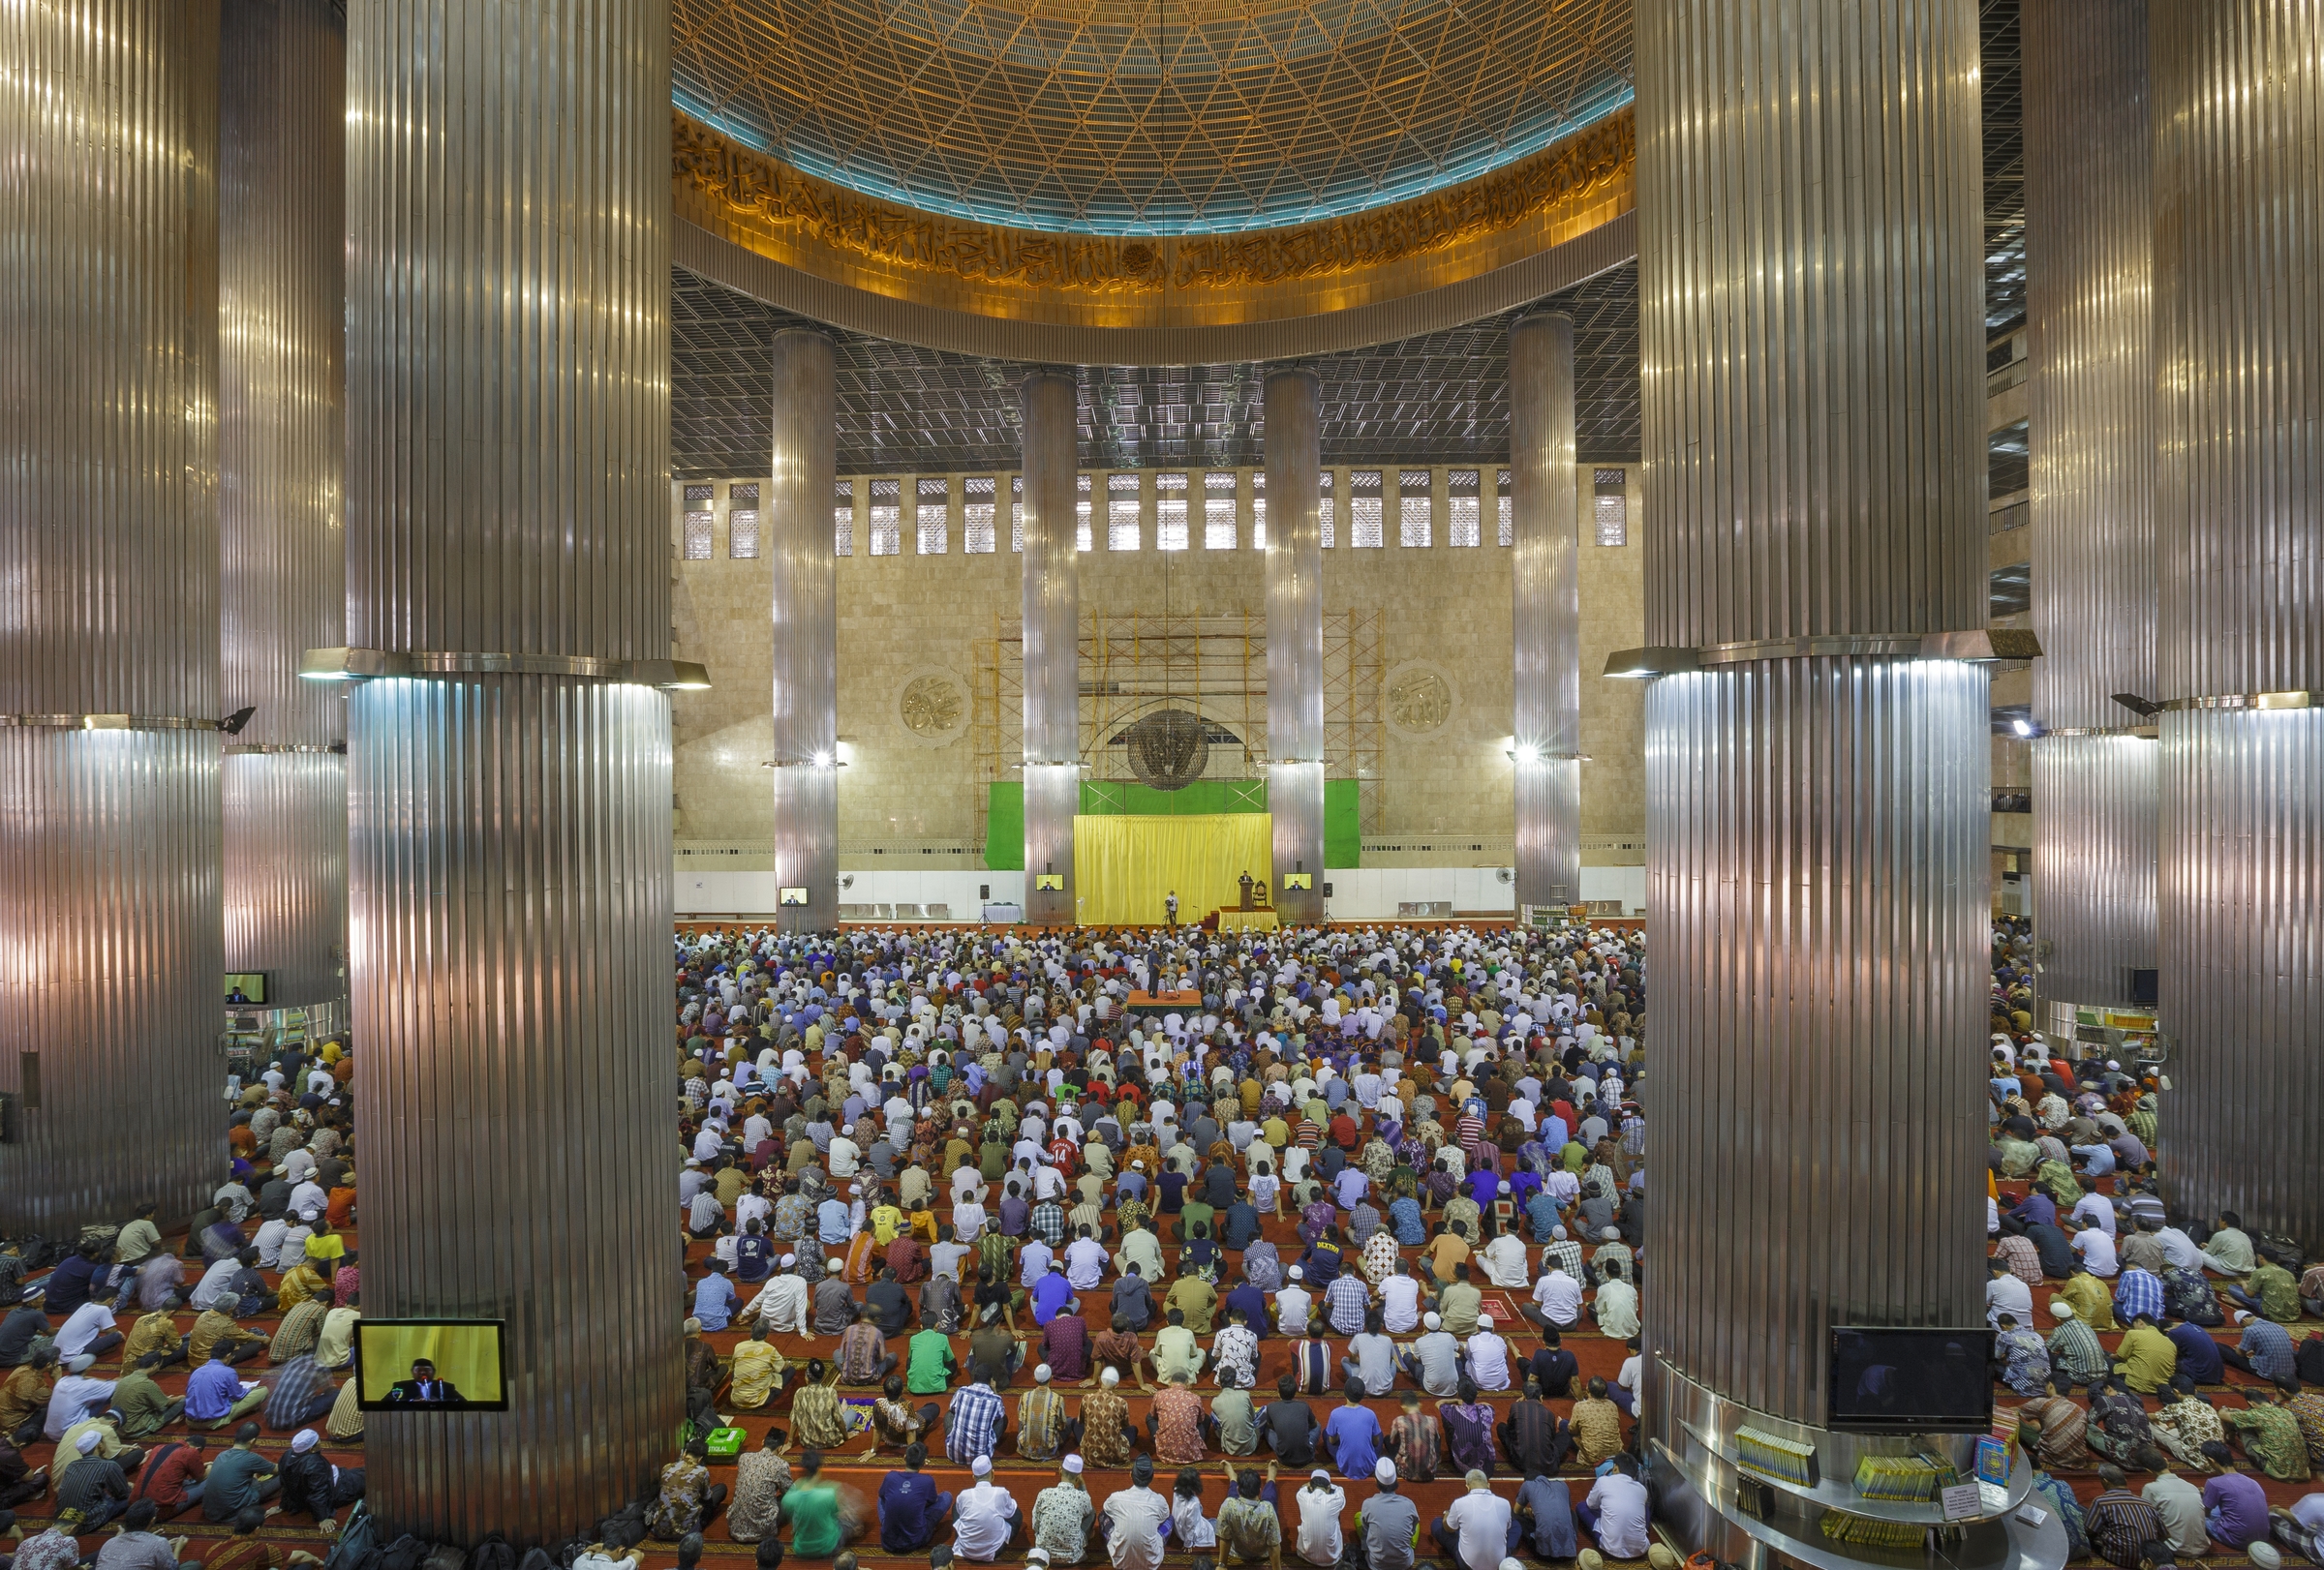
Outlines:
POLYGON ((1269 813, 1074 818, 1074 896, 1088 924, 1157 924, 1162 899, 1178 892, 1178 920, 1199 922, 1243 899, 1241 876, 1269 883, 1269 813))

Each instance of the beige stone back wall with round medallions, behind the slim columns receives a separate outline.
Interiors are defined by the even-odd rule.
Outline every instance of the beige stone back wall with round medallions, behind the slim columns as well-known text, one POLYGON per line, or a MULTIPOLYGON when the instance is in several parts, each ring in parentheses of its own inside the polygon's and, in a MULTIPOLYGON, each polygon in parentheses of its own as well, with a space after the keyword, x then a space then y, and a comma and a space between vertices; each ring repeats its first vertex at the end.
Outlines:
MULTIPOLYGON (((1601 464, 1604 467, 1604 464, 1601 464)), ((1592 471, 1583 474, 1583 834, 1585 862, 1641 859, 1643 806, 1643 687, 1604 680, 1606 655, 1643 641, 1643 571, 1638 467, 1618 464, 1627 481, 1627 541, 1599 546, 1592 471)), ((1415 509, 1429 520, 1427 546, 1401 543, 1399 469, 1387 464, 1378 548, 1350 543, 1350 471, 1334 471, 1334 536, 1325 553, 1325 615, 1346 625, 1350 611, 1376 613, 1376 634, 1353 683, 1339 680, 1334 701, 1378 713, 1360 725, 1360 741, 1378 741, 1378 778, 1367 790, 1367 866, 1487 866, 1508 862, 1511 841, 1511 571, 1499 543, 1494 471, 1480 474, 1478 546, 1452 546, 1452 471, 1432 474, 1432 497, 1415 509), (1434 680, 1432 680, 1434 678, 1434 680), (1348 692, 1355 687, 1355 692, 1348 692), (1369 692, 1367 692, 1369 687, 1369 692), (1439 718, 1439 699, 1450 708, 1439 718)), ((1169 474, 1169 471, 1162 471, 1169 474)), ((899 550, 871 553, 874 478, 844 481, 853 495, 853 550, 839 560, 839 838, 844 866, 923 866, 964 871, 981 866, 981 801, 985 771, 999 755, 1016 755, 1016 736, 992 725, 997 697, 1006 708, 1013 662, 995 660, 995 639, 1013 636, 1018 615, 1018 555, 1009 536, 1009 478, 995 476, 992 550, 967 553, 971 525, 969 476, 944 478, 948 499, 930 499, 930 523, 944 520, 941 555, 918 550, 918 478, 885 476, 895 499, 899 550), (983 746, 978 746, 983 722, 983 746)), ((1236 474, 1236 546, 1204 546, 1204 471, 1188 476, 1190 548, 1157 550, 1157 530, 1171 518, 1157 471, 1132 474, 1109 490, 1109 474, 1092 474, 1095 539, 1081 560, 1083 620, 1106 618, 1113 657, 1104 671, 1083 660, 1083 683, 1120 680, 1132 692, 1160 690, 1162 648, 1125 643, 1125 629, 1199 613, 1199 680, 1183 660, 1169 667, 1178 699, 1195 683, 1195 706, 1241 739, 1241 750, 1213 743, 1208 776, 1243 776, 1246 752, 1264 757, 1264 653, 1253 641, 1243 671, 1239 627, 1248 618, 1264 634, 1264 555, 1253 548, 1253 474, 1236 474), (1109 548, 1109 495, 1134 499, 1139 548, 1109 548)), ((672 485, 672 618, 676 657, 702 660, 709 692, 676 694, 676 836, 681 857, 697 869, 755 869, 753 845, 772 834, 767 759, 769 599, 772 562, 732 555, 737 534, 748 546, 748 520, 732 513, 734 481, 672 485), (695 495, 688 502, 688 495, 695 495), (706 492, 706 495, 704 495, 706 492), (688 516, 695 516, 693 520, 688 516), (706 530, 702 513, 706 513, 706 530), (693 534, 693 557, 688 550, 693 534)), ((983 499, 983 497, 978 497, 983 499)), ((834 499, 837 502, 837 499, 834 499)), ((834 509, 837 511, 837 509, 834 509)), ((1122 511, 1127 523, 1127 506, 1122 511)), ((885 541, 883 541, 885 543, 885 541)), ((932 541, 934 543, 934 541, 932 541)), ((1371 620, 1371 618, 1364 618, 1371 620)), ((1329 636, 1329 634, 1327 634, 1329 636)), ((1176 650, 1185 655, 1181 646, 1176 650)), ((1085 727, 1097 706, 1118 729, 1136 711, 1129 694, 1085 697, 1085 727)), ((1088 732, 1085 732, 1088 734, 1088 732)), ((1341 727, 1341 739, 1350 732, 1341 727)), ((1095 739, 1095 736, 1092 736, 1095 739)), ((1104 741, 1104 739, 1097 739, 1104 741)), ((1118 769, 1120 752, 1111 755, 1118 769)), ((1095 778, 1111 771, 1102 757, 1095 778)), ((1002 776, 1013 778, 1013 776, 1002 776)))

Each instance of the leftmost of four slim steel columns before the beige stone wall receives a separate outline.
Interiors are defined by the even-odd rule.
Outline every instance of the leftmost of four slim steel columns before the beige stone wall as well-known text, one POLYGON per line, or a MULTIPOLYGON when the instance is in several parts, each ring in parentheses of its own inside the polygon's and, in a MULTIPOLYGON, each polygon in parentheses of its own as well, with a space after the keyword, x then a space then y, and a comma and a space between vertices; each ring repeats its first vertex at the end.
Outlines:
POLYGON ((832 478, 839 471, 832 341, 774 334, 774 876, 806 890, 779 906, 783 931, 839 924, 839 560, 832 478))

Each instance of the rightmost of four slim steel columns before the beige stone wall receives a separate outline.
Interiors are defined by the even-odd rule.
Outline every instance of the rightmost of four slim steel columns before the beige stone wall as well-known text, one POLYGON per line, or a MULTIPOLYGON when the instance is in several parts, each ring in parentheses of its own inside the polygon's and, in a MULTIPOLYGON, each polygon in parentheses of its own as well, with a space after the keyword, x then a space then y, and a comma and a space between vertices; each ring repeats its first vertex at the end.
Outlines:
POLYGON ((1508 330, 1518 908, 1583 896, 1583 583, 1573 471, 1573 318, 1508 330))

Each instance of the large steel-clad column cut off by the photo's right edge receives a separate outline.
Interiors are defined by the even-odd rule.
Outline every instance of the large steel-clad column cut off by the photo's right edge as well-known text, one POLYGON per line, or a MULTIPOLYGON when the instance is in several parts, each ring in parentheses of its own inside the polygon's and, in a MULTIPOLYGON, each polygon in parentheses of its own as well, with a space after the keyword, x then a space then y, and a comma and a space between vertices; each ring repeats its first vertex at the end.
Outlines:
POLYGON ((2308 1249, 2324 1247, 2319 58, 2315 5, 2154 2, 2166 1201, 2308 1249))

